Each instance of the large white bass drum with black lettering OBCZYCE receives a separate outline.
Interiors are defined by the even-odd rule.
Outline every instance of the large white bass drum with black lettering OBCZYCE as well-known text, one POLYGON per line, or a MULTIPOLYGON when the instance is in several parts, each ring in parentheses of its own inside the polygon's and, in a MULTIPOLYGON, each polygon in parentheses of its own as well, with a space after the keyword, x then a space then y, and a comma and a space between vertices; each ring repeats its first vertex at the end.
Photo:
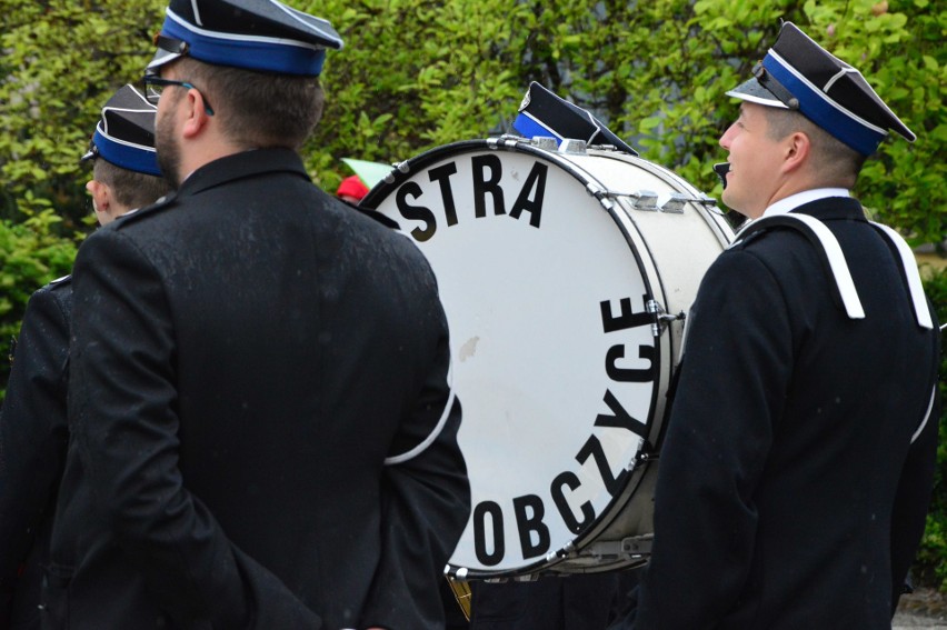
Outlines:
POLYGON ((450 326, 472 512, 448 574, 644 563, 685 312, 732 238, 714 200, 628 153, 501 137, 397 164, 361 206, 425 253, 450 326))

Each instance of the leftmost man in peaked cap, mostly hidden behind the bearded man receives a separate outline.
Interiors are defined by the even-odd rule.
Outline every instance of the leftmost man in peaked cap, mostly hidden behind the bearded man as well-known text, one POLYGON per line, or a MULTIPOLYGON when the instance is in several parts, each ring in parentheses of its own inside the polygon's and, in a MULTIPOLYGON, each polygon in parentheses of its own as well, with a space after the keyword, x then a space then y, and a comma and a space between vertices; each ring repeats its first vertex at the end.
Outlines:
MULTIPOLYGON (((170 190, 154 157, 154 106, 124 86, 102 108, 86 188, 101 224, 170 190)), ((0 409, 0 628, 40 627, 42 568, 66 459, 72 282, 30 297, 0 409)))

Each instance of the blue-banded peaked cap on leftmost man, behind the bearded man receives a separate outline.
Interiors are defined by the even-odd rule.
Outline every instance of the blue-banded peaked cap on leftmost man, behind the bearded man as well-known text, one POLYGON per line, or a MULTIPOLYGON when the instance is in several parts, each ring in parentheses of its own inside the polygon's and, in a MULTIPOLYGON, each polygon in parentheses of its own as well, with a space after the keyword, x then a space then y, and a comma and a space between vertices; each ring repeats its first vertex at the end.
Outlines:
POLYGON ((82 161, 102 158, 119 168, 161 176, 154 151, 156 107, 132 86, 124 86, 108 100, 82 161))

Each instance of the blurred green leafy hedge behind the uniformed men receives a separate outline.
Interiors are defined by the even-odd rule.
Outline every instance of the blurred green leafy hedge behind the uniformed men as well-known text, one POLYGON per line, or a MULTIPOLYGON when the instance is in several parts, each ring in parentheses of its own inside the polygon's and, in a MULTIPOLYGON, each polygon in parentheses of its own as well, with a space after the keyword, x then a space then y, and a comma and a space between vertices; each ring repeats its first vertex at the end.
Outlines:
MULTIPOLYGON (((917 142, 883 143, 856 194, 873 218, 943 254, 947 13, 930 0, 288 0, 346 39, 329 53, 323 122, 303 150, 327 190, 342 158, 398 162, 510 131, 530 81, 592 110, 642 157, 708 194, 749 76, 780 20, 859 68, 917 142), (939 8, 938 8, 939 7, 939 8)), ((137 82, 166 0, 4 0, 0 12, 0 346, 36 288, 68 273, 94 228, 80 167, 99 108, 137 82)), ((947 319, 947 277, 928 292, 947 319)), ((6 354, 6 352, 3 352, 6 354)), ((0 361, 0 397, 9 364, 0 361)), ((941 428, 945 420, 941 418, 941 428)), ((924 579, 947 584, 947 447, 924 579)))

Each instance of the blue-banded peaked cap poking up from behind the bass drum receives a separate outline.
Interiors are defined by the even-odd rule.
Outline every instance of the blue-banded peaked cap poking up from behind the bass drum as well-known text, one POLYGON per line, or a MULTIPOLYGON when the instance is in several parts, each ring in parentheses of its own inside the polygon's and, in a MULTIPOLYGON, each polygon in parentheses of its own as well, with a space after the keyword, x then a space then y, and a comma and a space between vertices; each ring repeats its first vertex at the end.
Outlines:
POLYGON ((527 138, 555 138, 557 144, 566 138, 574 138, 585 140, 587 144, 611 144, 619 151, 638 154, 591 113, 557 97, 536 81, 529 84, 512 126, 527 138))

